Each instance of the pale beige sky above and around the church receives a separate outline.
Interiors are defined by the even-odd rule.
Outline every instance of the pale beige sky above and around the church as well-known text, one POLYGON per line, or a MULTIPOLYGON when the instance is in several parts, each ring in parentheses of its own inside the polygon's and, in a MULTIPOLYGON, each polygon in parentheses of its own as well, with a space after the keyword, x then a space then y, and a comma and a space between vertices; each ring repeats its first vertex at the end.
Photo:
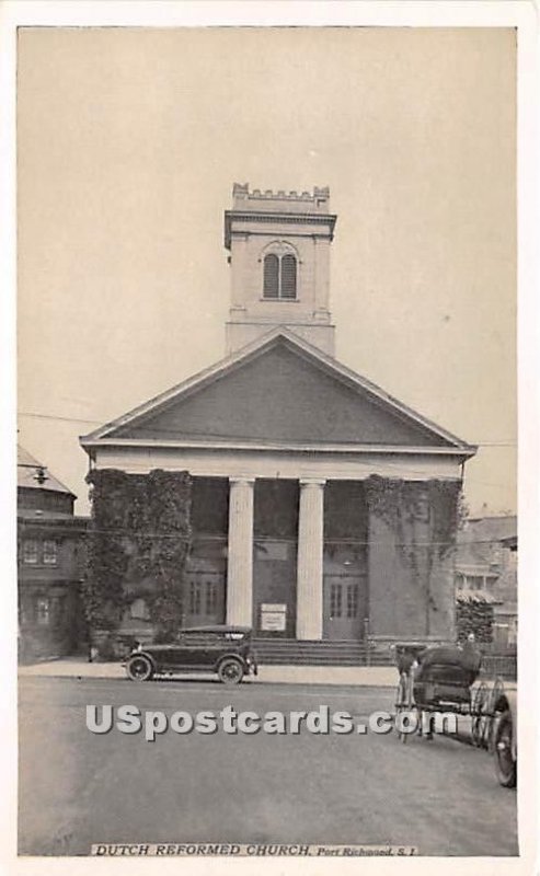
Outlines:
POLYGON ((480 445, 516 509, 512 28, 23 28, 19 441, 88 512, 78 437, 225 355, 233 182, 329 185, 336 356, 480 445))

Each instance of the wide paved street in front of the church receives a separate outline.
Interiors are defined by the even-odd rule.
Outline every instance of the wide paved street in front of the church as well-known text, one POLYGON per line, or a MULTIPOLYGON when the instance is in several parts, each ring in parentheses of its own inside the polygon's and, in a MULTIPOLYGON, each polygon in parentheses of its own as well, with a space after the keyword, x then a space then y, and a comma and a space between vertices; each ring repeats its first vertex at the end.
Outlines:
POLYGON ((389 689, 214 681, 20 680, 20 853, 92 842, 416 845, 424 855, 517 854, 516 793, 455 739, 173 731, 93 735, 87 704, 238 712, 390 710, 389 689))

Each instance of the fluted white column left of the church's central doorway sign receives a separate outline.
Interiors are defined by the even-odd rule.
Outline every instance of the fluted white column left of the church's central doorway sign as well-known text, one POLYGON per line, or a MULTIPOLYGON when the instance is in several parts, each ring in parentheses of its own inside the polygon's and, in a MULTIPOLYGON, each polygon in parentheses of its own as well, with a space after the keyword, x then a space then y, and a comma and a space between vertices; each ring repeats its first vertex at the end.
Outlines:
POLYGON ((253 623, 254 477, 230 479, 227 623, 253 623))

